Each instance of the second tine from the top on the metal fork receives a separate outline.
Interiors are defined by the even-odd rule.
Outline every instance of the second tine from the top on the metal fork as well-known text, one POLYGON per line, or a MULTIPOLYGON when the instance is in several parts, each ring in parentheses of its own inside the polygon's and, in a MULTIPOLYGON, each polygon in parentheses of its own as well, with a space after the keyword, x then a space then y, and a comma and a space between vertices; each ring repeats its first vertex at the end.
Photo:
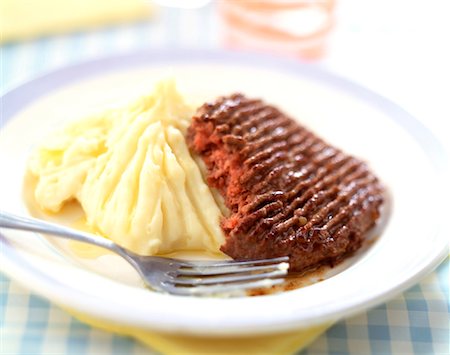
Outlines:
POLYGON ((286 262, 269 264, 269 265, 258 265, 258 266, 238 266, 234 264, 228 264, 224 266, 201 266, 201 267, 191 267, 180 268, 177 271, 178 275, 183 276, 200 276, 200 275, 219 275, 219 274, 237 274, 237 273, 248 273, 250 271, 264 271, 268 269, 278 269, 278 270, 288 270, 289 264, 286 262))

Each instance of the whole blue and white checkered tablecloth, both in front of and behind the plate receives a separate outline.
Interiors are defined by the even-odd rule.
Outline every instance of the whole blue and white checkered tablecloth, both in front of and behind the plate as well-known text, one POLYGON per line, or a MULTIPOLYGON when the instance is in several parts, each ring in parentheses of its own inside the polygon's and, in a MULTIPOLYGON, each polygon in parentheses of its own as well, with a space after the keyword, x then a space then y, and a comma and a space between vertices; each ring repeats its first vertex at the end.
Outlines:
MULTIPOLYGON (((111 54, 219 46, 211 7, 166 9, 160 16, 150 23, 7 44, 1 48, 1 90, 68 64, 111 54)), ((301 354, 449 354, 448 270, 447 260, 397 298, 337 323, 301 354)), ((0 285, 1 354, 152 353, 133 339, 80 323, 4 276, 0 285)))

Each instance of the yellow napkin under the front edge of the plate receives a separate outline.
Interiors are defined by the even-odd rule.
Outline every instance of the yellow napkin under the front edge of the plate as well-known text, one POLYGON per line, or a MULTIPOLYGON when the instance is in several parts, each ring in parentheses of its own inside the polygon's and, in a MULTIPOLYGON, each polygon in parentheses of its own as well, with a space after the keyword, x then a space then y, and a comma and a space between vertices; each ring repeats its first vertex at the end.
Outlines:
POLYGON ((115 325, 73 310, 67 311, 83 323, 136 338, 164 355, 291 355, 306 347, 331 325, 245 338, 192 337, 115 325))

